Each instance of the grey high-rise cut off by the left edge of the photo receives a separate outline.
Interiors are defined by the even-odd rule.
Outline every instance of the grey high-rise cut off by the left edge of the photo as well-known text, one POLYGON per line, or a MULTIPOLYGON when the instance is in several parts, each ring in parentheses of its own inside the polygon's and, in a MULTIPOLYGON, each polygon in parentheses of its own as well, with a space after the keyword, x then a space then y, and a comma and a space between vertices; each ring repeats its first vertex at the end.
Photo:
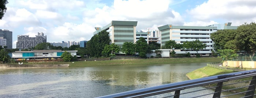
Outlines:
POLYGON ((0 37, 6 39, 7 49, 12 49, 12 31, 0 29, 0 37))

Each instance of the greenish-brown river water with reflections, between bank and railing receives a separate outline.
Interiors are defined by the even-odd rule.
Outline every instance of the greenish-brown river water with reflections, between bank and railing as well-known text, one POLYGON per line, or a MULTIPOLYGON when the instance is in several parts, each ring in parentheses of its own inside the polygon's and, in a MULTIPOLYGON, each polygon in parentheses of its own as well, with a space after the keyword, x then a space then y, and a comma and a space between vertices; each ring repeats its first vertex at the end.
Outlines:
POLYGON ((186 73, 205 65, 0 69, 0 98, 93 98, 189 80, 186 73))

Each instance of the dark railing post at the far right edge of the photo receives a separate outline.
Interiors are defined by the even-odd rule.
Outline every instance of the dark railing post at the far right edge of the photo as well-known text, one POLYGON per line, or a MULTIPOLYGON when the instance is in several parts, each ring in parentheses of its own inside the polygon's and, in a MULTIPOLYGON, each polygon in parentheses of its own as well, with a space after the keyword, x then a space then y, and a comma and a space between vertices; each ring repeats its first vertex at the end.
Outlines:
POLYGON ((251 86, 249 86, 247 89, 248 92, 246 92, 245 94, 245 96, 248 96, 248 97, 245 97, 245 98, 253 98, 254 92, 255 92, 255 85, 256 85, 256 76, 252 77, 250 85, 251 86), (249 90, 252 90, 252 91, 249 91, 249 90))

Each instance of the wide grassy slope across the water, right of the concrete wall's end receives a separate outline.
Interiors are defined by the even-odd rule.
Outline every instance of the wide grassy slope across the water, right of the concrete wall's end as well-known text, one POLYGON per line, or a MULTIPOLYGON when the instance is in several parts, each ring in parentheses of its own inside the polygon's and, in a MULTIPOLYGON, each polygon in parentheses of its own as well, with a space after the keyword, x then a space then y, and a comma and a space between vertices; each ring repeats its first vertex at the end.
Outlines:
POLYGON ((204 63, 221 61, 217 57, 201 58, 161 58, 161 59, 136 59, 136 60, 107 60, 107 61, 78 61, 69 63, 70 67, 87 66, 111 66, 111 65, 148 65, 148 64, 171 64, 171 63, 204 63))

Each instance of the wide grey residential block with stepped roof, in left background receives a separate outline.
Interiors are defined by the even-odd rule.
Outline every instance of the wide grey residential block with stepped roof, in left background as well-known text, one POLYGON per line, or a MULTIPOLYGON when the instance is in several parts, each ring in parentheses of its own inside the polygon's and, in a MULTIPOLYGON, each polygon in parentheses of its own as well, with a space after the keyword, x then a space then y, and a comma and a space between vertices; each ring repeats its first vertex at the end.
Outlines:
POLYGON ((44 33, 37 33, 36 37, 29 37, 29 35, 18 35, 17 48, 28 49, 35 47, 37 44, 47 42, 46 35, 44 33))

